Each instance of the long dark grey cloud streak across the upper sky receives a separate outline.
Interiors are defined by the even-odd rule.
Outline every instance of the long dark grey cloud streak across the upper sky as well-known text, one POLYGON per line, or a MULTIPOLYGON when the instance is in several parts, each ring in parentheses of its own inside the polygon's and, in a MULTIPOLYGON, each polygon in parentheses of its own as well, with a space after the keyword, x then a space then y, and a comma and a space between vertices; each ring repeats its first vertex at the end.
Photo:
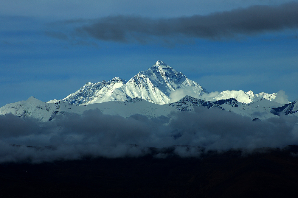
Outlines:
POLYGON ((78 20, 77 23, 84 24, 77 27, 75 32, 79 37, 139 43, 148 42, 156 37, 233 38, 238 35, 296 29, 298 27, 297 10, 298 3, 293 2, 279 6, 255 5, 204 16, 193 15, 168 19, 120 15, 97 20, 78 20))

